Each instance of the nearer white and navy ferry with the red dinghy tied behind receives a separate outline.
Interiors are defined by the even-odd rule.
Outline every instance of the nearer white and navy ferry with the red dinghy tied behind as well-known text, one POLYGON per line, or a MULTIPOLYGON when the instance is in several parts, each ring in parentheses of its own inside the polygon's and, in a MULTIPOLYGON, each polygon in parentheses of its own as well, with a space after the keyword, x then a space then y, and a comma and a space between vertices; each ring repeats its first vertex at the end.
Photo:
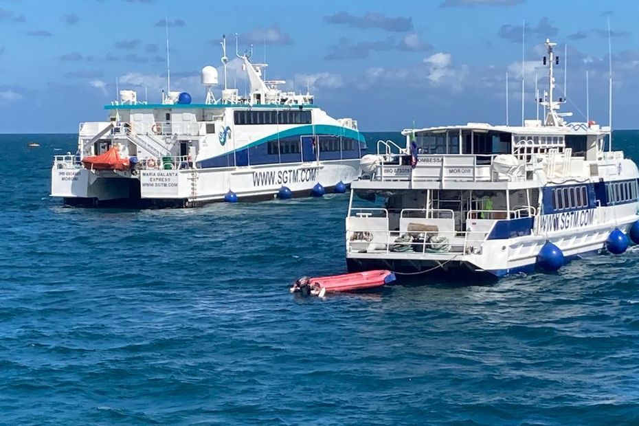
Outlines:
POLYGON ((639 243, 637 166, 612 150, 609 126, 558 112, 554 45, 543 123, 407 129, 405 147, 379 141, 363 157, 346 218, 349 271, 499 277, 620 254, 627 236, 639 243))

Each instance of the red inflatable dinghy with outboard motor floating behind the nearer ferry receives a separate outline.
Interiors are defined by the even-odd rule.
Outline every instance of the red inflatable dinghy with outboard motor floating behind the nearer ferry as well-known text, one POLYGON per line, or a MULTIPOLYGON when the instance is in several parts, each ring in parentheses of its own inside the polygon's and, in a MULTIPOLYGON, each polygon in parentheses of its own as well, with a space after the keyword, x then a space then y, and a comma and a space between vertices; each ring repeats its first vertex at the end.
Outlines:
POLYGON ((291 293, 299 291, 302 294, 317 295, 321 298, 324 294, 335 291, 357 291, 381 287, 394 280, 394 273, 382 269, 328 277, 302 277, 295 281, 291 287, 291 293))

